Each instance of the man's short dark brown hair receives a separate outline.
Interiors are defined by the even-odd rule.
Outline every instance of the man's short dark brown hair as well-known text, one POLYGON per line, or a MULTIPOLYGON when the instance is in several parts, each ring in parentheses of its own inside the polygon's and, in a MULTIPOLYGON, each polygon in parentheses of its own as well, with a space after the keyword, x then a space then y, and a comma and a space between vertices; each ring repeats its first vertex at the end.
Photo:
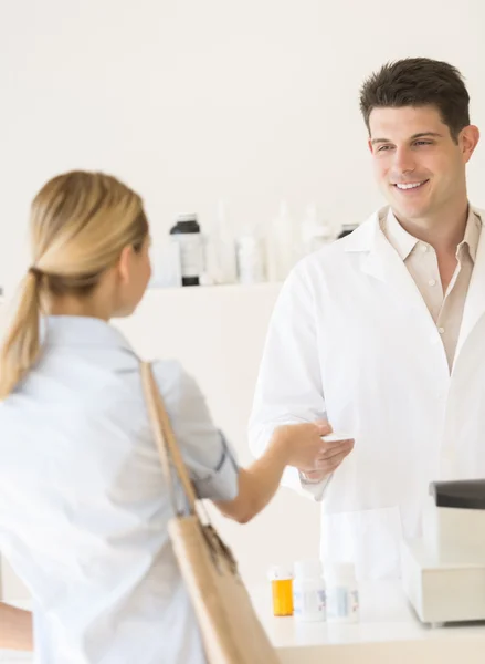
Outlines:
POLYGON ((454 141, 470 125, 470 96, 460 71, 447 62, 407 58, 388 62, 360 89, 360 111, 369 129, 372 108, 433 105, 454 141))

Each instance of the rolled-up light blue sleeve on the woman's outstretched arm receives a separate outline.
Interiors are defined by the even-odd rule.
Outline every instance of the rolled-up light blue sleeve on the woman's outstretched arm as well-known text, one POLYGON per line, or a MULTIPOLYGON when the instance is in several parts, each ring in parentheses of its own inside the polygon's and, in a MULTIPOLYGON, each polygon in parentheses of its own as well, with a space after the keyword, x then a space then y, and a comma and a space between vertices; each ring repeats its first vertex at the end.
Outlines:
POLYGON ((234 499, 239 476, 236 457, 213 424, 198 384, 178 362, 157 362, 154 374, 199 497, 234 499))

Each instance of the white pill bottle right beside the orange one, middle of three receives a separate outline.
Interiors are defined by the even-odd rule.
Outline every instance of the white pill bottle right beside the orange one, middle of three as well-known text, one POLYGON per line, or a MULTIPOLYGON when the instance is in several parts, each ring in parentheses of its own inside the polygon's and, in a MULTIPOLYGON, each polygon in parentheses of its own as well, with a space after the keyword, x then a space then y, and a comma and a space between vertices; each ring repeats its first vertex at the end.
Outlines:
POLYGON ((319 560, 298 560, 294 564, 293 606, 301 622, 326 620, 326 592, 319 560))

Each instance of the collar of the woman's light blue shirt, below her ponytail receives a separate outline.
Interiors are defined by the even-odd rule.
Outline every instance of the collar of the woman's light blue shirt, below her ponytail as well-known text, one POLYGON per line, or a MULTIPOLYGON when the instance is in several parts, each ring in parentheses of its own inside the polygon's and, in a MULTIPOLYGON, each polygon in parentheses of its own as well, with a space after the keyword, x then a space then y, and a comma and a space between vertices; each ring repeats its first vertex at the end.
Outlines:
POLYGON ((49 315, 42 320, 41 335, 46 346, 116 346, 131 351, 113 325, 84 315, 49 315))

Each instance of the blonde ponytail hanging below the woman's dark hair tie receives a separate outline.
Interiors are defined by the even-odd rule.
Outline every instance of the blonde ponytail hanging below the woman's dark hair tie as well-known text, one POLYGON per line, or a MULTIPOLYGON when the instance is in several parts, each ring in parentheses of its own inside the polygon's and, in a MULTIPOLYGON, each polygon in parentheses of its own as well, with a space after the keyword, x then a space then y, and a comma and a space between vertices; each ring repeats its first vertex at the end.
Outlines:
POLYGON ((39 277, 29 270, 19 303, 0 352, 0 400, 6 398, 35 363, 39 351, 39 277))

